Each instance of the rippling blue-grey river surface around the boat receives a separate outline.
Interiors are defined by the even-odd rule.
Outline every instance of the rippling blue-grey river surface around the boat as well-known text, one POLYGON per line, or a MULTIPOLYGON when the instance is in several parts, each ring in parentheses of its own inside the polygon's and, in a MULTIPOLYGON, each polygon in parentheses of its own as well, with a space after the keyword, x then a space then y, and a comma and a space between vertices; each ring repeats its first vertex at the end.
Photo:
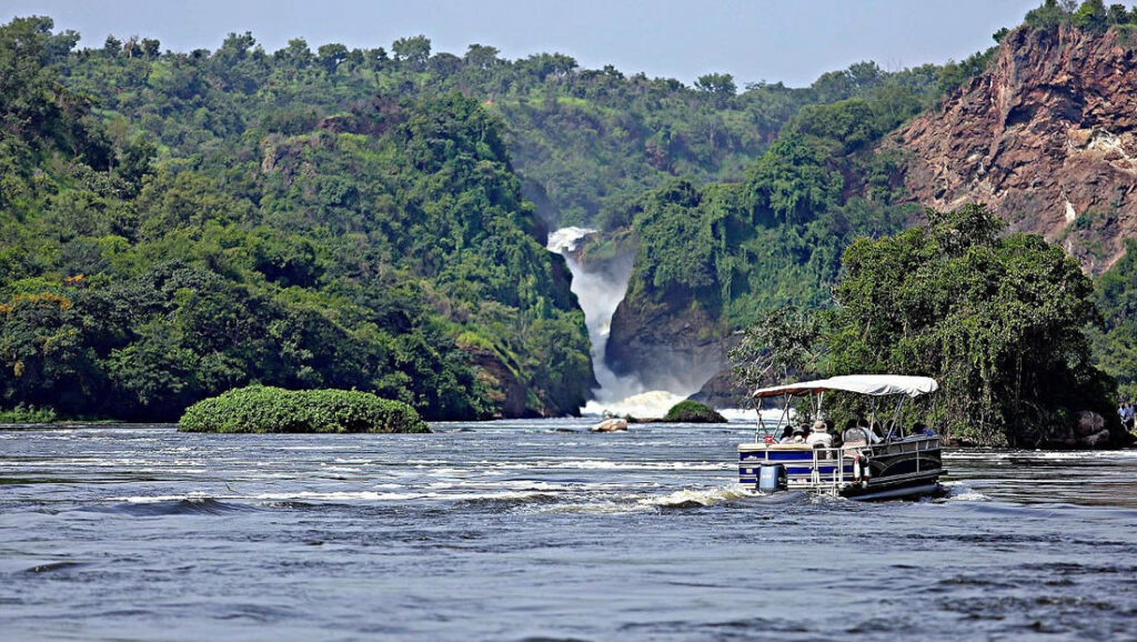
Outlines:
POLYGON ((1137 452, 954 452, 948 495, 738 487, 745 425, 0 433, 5 640, 1117 640, 1137 452))

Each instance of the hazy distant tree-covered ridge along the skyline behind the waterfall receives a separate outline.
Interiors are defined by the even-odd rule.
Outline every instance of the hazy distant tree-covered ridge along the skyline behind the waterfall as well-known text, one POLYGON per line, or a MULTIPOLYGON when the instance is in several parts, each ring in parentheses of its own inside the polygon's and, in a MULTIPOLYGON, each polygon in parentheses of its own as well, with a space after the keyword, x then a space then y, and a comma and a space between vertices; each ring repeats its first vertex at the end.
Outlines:
MULTIPOLYGON (((66 50, 65 50, 66 51, 66 50)), ((357 102, 453 91, 476 99, 508 124, 503 138, 524 194, 550 224, 621 227, 630 203, 674 176, 737 180, 805 105, 864 96, 881 84, 923 91, 939 69, 890 74, 858 63, 808 88, 748 84, 707 74, 687 87, 580 68, 570 56, 507 60, 493 47, 462 57, 433 52, 424 36, 391 51, 304 40, 264 51, 249 34, 230 34, 216 51, 160 52, 160 43, 108 38, 101 48, 60 59, 68 87, 98 101, 110 140, 144 133, 163 154, 208 159, 229 141, 310 131, 357 102)), ((928 97, 929 101, 931 96, 928 97)))

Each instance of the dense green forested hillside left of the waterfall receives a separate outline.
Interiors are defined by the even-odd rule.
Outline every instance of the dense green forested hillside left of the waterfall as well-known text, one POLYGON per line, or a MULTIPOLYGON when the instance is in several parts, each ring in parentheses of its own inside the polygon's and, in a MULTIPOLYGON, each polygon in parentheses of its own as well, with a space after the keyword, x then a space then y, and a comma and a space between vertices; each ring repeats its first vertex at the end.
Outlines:
POLYGON ((429 418, 500 414, 507 388, 512 413, 583 404, 567 270, 476 101, 289 120, 250 102, 248 48, 69 55, 75 40, 45 18, 0 27, 0 404, 176 419, 250 382, 372 390, 429 418), (92 110, 58 82, 76 65, 134 110, 92 110))

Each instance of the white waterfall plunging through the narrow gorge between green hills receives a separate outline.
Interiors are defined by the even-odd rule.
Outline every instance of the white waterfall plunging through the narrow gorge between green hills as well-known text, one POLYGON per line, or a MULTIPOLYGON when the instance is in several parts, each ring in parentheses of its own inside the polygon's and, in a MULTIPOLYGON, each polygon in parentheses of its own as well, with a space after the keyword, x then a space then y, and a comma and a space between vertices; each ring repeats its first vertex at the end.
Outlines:
POLYGON ((576 262, 572 253, 580 241, 596 230, 587 228, 561 228, 549 234, 547 247, 565 257, 572 272, 572 291, 584 311, 588 338, 592 343, 592 370, 599 388, 592 390, 592 401, 581 412, 583 414, 617 414, 652 418, 663 417, 667 410, 687 398, 695 390, 647 390, 636 377, 617 377, 604 363, 604 348, 608 343, 612 315, 628 291, 631 275, 629 257, 626 270, 615 274, 605 271, 588 272, 576 262))

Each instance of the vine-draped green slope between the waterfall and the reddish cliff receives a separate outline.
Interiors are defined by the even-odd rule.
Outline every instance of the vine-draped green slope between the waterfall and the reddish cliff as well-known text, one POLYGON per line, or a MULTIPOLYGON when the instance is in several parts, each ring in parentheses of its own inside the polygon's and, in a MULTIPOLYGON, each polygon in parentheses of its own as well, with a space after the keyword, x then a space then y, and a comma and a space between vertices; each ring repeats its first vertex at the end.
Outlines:
POLYGON ((700 306, 728 328, 790 303, 824 306, 841 250, 915 213, 898 203, 898 159, 869 151, 933 91, 931 75, 899 77, 869 98, 802 108, 740 183, 679 180, 644 198, 628 299, 700 306))

